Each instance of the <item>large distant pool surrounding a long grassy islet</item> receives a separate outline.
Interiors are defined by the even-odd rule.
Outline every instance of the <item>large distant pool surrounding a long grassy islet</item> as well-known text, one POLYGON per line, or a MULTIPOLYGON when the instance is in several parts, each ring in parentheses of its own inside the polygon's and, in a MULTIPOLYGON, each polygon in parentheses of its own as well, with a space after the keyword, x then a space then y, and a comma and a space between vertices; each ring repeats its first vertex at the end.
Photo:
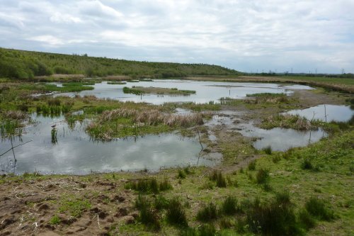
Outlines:
MULTIPOLYGON (((80 96, 94 95, 98 98, 110 98, 119 101, 135 101, 147 102, 154 104, 163 104, 166 102, 195 102, 207 103, 213 101, 219 103, 219 99, 229 97, 232 99, 243 99, 247 94, 256 93, 285 93, 290 94, 295 89, 312 89, 309 86, 279 86, 278 84, 258 84, 258 83, 235 83, 235 82, 198 82, 181 79, 154 80, 152 82, 138 82, 127 84, 107 84, 102 82, 95 84, 93 90, 81 91, 77 94, 80 96), (143 87, 161 87, 161 88, 177 88, 186 90, 195 90, 196 94, 189 96, 169 96, 145 94, 142 96, 135 94, 124 94, 122 88, 124 86, 143 86, 143 87)), ((74 93, 66 93, 62 95, 74 96, 74 93)), ((55 96, 60 96, 59 94, 55 96)))

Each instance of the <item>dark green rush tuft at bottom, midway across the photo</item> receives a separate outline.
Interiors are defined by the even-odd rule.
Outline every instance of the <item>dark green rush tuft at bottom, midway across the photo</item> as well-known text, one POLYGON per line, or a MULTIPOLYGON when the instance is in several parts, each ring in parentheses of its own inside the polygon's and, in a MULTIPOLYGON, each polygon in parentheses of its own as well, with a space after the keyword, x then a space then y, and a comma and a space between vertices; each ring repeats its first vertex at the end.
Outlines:
POLYGON ((181 201, 178 198, 171 199, 167 207, 166 218, 167 221, 173 225, 188 225, 187 218, 185 217, 185 211, 183 210, 181 201))

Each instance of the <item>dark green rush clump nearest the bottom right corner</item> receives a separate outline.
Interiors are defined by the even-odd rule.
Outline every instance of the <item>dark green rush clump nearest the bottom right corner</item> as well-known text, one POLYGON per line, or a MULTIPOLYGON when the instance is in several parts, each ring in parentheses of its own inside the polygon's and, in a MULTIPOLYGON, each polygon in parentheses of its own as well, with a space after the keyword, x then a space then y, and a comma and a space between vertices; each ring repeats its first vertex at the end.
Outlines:
POLYGON ((329 221, 334 218, 333 211, 326 208, 324 201, 319 198, 309 198, 305 203, 305 208, 311 215, 318 217, 320 220, 329 221))

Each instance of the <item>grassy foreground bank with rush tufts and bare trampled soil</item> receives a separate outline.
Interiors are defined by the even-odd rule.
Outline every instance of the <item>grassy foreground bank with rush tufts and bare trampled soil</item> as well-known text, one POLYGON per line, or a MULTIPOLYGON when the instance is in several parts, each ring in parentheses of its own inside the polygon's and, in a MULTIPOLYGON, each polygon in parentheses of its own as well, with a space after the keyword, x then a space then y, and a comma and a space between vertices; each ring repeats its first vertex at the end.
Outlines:
MULTIPOLYGON (((2 176, 2 208, 23 213, 23 233, 352 235, 353 139, 353 132, 338 133, 302 149, 263 154, 229 172, 185 167, 2 176)), ((10 213, 1 216, 3 233, 20 220, 10 213)))

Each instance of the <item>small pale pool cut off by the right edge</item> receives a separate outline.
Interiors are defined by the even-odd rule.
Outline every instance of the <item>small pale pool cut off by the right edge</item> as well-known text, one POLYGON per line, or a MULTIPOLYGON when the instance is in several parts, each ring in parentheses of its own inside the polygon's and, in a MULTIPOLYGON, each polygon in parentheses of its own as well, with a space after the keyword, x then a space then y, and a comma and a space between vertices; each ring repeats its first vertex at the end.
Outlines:
POLYGON ((288 111, 287 114, 304 116, 308 120, 323 120, 327 122, 346 122, 354 116, 354 110, 350 106, 319 105, 304 110, 288 111), (326 113, 326 116, 325 116, 326 113))

